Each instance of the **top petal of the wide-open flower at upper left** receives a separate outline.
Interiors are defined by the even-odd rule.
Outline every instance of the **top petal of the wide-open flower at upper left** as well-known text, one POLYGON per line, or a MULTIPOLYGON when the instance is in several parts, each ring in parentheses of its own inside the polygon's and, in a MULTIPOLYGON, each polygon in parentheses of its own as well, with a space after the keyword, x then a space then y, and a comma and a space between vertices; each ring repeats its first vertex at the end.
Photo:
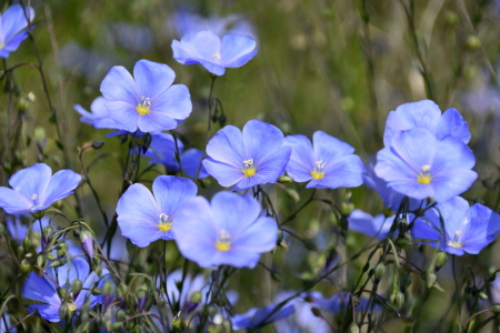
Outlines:
POLYGON ((133 79, 141 98, 153 101, 172 85, 176 73, 164 63, 142 59, 133 67, 133 79))

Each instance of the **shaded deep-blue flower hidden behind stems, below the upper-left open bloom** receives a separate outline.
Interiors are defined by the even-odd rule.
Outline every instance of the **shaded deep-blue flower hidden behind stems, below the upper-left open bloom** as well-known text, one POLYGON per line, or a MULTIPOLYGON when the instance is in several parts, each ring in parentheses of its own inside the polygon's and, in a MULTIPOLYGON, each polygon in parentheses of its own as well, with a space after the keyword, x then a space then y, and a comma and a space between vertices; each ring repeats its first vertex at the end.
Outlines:
MULTIPOLYGON (((180 140, 177 140, 179 147, 180 161, 182 171, 190 178, 194 178, 198 168, 203 159, 203 152, 198 149, 188 149, 180 140)), ((152 159, 149 163, 161 163, 168 171, 179 171, 179 163, 176 159, 176 141, 172 135, 167 133, 154 133, 151 135, 150 149, 144 153, 146 157, 152 159)), ((199 179, 209 176, 207 170, 201 165, 199 179)))

